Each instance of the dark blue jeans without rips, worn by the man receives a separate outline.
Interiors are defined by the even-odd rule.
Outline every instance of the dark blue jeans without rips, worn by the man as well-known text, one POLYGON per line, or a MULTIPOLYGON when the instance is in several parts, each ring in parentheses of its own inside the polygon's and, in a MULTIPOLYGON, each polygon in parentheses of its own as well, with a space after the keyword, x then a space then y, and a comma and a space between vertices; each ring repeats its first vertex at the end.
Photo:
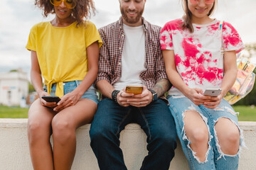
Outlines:
POLYGON ((91 147, 100 169, 127 169, 119 134, 128 123, 138 123, 147 135, 149 154, 141 169, 169 169, 176 148, 176 129, 166 103, 159 99, 143 108, 122 107, 109 98, 98 103, 90 128, 91 147))

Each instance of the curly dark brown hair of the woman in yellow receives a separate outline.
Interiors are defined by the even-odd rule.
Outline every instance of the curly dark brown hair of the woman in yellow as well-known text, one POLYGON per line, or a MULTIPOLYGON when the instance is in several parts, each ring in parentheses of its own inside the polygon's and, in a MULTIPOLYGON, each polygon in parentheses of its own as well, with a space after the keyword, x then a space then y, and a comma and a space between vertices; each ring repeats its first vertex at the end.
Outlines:
MULTIPOLYGON (((75 1, 75 8, 72 10, 72 16, 78 25, 84 21, 84 19, 90 18, 91 14, 95 14, 95 4, 93 0, 73 0, 75 1)), ((53 4, 50 0, 35 0, 35 5, 38 8, 43 9, 43 16, 48 16, 49 13, 55 13, 53 4)))

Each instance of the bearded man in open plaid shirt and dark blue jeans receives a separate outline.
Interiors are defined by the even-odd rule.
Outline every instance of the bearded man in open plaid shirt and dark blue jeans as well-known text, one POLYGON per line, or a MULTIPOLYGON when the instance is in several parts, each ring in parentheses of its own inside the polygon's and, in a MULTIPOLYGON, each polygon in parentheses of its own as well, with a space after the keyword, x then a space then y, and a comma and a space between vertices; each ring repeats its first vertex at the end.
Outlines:
POLYGON ((105 99, 98 104, 91 125, 91 147, 100 169, 127 169, 119 133, 128 123, 138 123, 147 135, 149 150, 142 169, 169 169, 176 129, 163 100, 171 84, 159 43, 161 28, 142 18, 146 0, 119 3, 122 17, 99 30, 103 45, 96 86, 105 99), (143 86, 142 94, 126 93, 127 85, 143 86))

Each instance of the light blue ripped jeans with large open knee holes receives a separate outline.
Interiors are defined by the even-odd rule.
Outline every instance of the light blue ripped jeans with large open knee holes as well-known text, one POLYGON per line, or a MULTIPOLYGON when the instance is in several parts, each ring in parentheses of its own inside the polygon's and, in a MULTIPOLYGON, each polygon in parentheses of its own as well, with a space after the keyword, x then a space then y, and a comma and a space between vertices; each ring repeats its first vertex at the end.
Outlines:
POLYGON ((220 105, 215 109, 209 109, 201 106, 196 106, 192 101, 190 101, 185 96, 168 96, 168 101, 170 103, 169 109, 174 117, 176 123, 176 130, 179 140, 181 141, 181 147, 183 152, 188 159, 188 165, 190 169, 195 170, 210 170, 210 169, 223 169, 223 170, 235 170, 238 169, 238 159, 240 148, 244 147, 242 130, 238 127, 238 118, 230 106, 230 104, 224 99, 220 102, 220 105), (196 152, 190 147, 191 141, 186 136, 184 128, 184 117, 186 111, 196 111, 201 115, 204 123, 208 128, 209 139, 208 139, 208 151, 206 152, 206 159, 204 162, 200 162, 198 157, 196 157, 196 152), (219 118, 228 118, 235 125, 237 125, 240 131, 240 147, 238 153, 235 155, 224 154, 218 143, 217 132, 215 130, 215 123, 218 122, 219 118))

